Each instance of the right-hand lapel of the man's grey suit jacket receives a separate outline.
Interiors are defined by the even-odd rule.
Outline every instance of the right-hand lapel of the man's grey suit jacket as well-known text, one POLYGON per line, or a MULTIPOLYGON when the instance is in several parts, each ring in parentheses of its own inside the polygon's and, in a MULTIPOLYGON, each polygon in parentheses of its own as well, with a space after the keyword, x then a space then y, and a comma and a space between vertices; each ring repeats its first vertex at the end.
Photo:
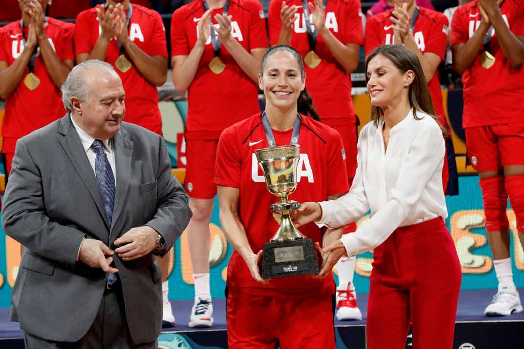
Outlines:
POLYGON ((133 154, 133 142, 126 139, 127 132, 121 127, 120 131, 113 137, 115 149, 115 172, 116 172, 116 194, 113 206, 113 222, 110 230, 110 241, 116 238, 113 229, 118 217, 122 213, 124 201, 131 176, 131 156, 133 154))

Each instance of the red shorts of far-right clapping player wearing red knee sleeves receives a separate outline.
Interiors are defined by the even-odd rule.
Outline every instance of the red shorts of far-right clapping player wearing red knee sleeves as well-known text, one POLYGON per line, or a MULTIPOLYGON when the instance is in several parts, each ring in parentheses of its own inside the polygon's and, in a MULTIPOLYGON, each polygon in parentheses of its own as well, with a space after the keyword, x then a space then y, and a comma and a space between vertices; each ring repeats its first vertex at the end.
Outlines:
POLYGON ((467 156, 477 171, 524 165, 524 122, 466 128, 467 156))

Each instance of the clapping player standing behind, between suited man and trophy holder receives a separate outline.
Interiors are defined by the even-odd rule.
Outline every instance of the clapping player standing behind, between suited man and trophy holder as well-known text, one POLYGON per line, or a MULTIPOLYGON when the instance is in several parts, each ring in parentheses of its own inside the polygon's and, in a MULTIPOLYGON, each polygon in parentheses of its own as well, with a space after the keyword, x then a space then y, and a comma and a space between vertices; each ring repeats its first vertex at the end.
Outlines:
POLYGON ((210 327, 209 223, 216 186, 216 146, 222 131, 259 111, 260 61, 267 50, 264 12, 256 0, 196 0, 171 19, 173 82, 188 92, 185 188, 193 217, 188 241, 195 303, 190 327, 210 327))

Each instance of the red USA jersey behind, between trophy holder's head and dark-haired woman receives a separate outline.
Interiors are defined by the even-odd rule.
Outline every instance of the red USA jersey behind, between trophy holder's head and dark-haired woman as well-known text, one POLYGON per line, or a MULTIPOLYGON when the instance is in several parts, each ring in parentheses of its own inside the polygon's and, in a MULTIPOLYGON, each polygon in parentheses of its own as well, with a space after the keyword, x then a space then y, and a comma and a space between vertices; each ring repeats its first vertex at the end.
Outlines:
MULTIPOLYGON (((291 33, 291 46, 302 54, 302 57, 310 51, 308 32, 305 26, 302 0, 287 0, 288 6, 297 6, 293 31, 291 33)), ((278 43, 278 36, 282 28, 280 20, 281 0, 271 0, 269 3, 268 27, 269 42, 271 45, 278 43)), ((325 8, 325 27, 343 44, 355 43, 362 45, 362 18, 359 12, 360 2, 358 0, 335 0, 328 1, 325 8)), ((314 28, 313 25, 311 25, 314 28)), ((346 119, 355 122, 355 111, 351 99, 351 77, 326 45, 319 34, 315 52, 322 62, 311 69, 304 64, 307 74, 305 80, 308 92, 315 102, 314 107, 322 119, 346 119)))

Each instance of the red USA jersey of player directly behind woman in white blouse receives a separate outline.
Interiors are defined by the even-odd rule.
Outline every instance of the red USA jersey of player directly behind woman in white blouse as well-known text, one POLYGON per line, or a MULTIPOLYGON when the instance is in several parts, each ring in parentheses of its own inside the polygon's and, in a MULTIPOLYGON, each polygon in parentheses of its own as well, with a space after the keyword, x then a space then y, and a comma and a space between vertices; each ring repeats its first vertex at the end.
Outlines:
MULTIPOLYGON (((393 22, 389 17, 393 10, 369 18, 366 22, 366 57, 383 44, 394 44, 393 22)), ((444 60, 446 53, 448 21, 446 16, 424 7, 420 7, 419 16, 413 29, 413 37, 422 53, 432 52, 444 60)), ((439 82, 439 71, 428 82, 435 115, 444 116, 442 90, 439 82)))

